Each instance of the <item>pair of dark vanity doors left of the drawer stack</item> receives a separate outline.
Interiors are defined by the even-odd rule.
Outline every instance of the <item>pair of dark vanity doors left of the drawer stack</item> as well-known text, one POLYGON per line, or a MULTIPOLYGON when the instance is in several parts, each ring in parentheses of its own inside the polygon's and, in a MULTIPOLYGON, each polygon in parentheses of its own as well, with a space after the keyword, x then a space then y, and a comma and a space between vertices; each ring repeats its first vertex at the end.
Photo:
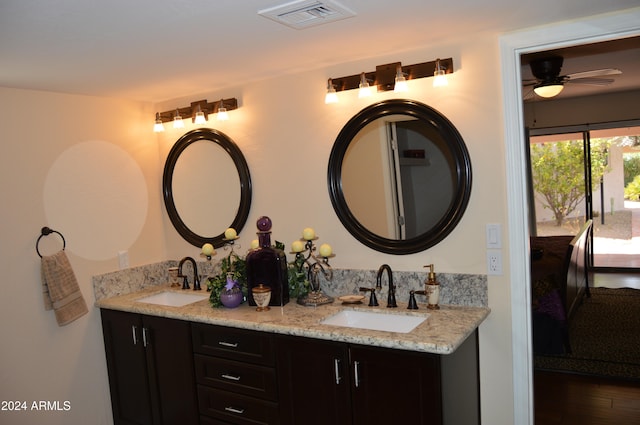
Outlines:
POLYGON ((189 322, 101 315, 114 424, 198 424, 189 322))

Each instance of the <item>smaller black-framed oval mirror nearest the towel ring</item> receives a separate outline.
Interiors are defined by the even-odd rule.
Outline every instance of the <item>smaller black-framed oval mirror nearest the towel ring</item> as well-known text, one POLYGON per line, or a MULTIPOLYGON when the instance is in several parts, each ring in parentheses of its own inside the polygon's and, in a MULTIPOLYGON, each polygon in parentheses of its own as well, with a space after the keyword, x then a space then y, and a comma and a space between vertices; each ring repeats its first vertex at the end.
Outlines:
POLYGON ((219 248, 224 232, 244 227, 251 206, 251 176, 238 146, 224 133, 201 128, 178 139, 162 178, 171 223, 190 244, 219 248))

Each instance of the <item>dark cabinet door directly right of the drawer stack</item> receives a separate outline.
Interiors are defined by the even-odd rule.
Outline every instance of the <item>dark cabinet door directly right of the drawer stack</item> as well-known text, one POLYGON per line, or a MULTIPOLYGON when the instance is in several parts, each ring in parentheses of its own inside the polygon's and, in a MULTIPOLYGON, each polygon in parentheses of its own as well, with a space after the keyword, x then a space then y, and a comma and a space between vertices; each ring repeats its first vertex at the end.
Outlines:
MULTIPOLYGON (((307 338, 278 338, 282 424, 350 424, 348 359, 345 344, 307 338)), ((368 425, 374 423, 381 422, 369 422, 368 425)))

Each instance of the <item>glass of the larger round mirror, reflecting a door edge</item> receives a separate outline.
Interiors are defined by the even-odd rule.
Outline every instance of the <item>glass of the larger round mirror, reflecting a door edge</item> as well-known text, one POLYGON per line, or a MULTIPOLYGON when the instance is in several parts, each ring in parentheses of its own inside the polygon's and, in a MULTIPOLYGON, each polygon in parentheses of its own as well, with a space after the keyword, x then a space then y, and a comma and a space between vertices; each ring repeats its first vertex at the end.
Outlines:
POLYGON ((349 144, 342 184, 349 209, 369 231, 409 239, 433 228, 450 208, 455 163, 432 126, 409 116, 378 119, 349 144))

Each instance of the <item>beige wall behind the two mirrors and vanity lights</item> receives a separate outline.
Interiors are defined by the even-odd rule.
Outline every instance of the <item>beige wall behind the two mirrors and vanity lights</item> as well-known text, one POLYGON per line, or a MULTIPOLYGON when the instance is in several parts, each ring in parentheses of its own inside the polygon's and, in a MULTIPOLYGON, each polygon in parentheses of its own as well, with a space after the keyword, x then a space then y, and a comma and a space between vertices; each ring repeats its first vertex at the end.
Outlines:
MULTIPOLYGON (((244 152, 254 182, 254 198, 240 244, 255 239, 255 221, 261 215, 273 220, 273 238, 289 245, 302 229, 314 227, 319 242, 330 243, 335 267, 377 269, 388 263, 394 270, 423 270, 429 263, 436 271, 486 273, 485 224, 505 223, 504 143, 499 75, 484 73, 487 63, 498 63, 497 35, 480 34, 473 40, 452 41, 437 48, 378 57, 367 62, 343 64, 267 82, 248 84, 225 93, 201 93, 195 97, 156 105, 160 111, 189 104, 193 99, 237 97, 240 108, 231 120, 214 128, 231 137, 244 152), (471 155, 473 186, 467 212, 453 233, 437 246, 412 255, 393 256, 373 251, 351 237, 336 217, 329 200, 326 173, 333 142, 355 113, 373 102, 397 97, 393 92, 358 99, 356 91, 339 93, 337 105, 324 104, 328 77, 375 69, 376 65, 401 61, 419 63, 452 56, 455 73, 445 89, 432 87, 431 79, 410 81, 407 97, 424 102, 447 116, 462 134, 471 155), (479 76, 483 84, 476 84, 479 76)), ((162 149, 184 131, 167 126, 158 136, 162 149)), ((428 195, 427 195, 428 196, 428 195)), ((197 255, 199 250, 179 239, 168 224, 167 246, 172 258, 197 255)), ((506 230, 506 226, 503 226, 506 230)), ((503 244, 506 244, 506 237, 503 244)), ((506 252, 505 246, 505 252, 506 252)), ((508 273, 505 262, 505 275, 508 273)), ((483 423, 511 424, 513 411, 510 339, 510 292, 504 276, 490 277, 492 313, 480 329, 483 423)))

